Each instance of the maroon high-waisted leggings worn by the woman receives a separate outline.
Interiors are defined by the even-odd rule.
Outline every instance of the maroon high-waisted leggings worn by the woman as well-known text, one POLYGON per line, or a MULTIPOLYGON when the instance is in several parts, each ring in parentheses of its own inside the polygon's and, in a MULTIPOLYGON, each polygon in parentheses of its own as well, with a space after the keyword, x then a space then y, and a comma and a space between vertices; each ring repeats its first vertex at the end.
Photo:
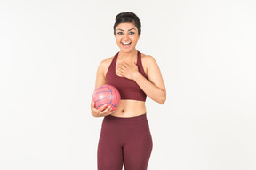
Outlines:
POLYGON ((98 170, 147 170, 153 143, 146 113, 131 118, 106 116, 98 144, 98 170))

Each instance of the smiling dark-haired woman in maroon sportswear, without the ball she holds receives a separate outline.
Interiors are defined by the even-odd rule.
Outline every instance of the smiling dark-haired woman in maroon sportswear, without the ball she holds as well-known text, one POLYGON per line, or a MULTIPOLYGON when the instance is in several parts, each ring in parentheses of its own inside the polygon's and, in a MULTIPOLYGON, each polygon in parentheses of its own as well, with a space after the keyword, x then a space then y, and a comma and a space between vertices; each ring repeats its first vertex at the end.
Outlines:
POLYGON ((146 117, 146 97, 164 104, 166 91, 153 57, 136 50, 140 39, 140 19, 132 12, 116 16, 114 35, 120 51, 101 61, 95 89, 110 84, 119 90, 121 102, 116 111, 106 105, 94 117, 104 117, 98 144, 98 170, 146 170, 152 151, 152 138, 146 117))

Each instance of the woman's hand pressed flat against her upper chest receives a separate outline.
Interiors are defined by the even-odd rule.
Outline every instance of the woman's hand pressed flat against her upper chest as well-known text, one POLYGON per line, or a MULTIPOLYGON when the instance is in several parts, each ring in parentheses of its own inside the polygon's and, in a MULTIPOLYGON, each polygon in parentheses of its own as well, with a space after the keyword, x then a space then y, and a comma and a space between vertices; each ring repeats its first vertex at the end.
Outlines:
POLYGON ((120 62, 116 63, 116 74, 120 77, 126 77, 127 79, 134 80, 134 77, 139 73, 138 66, 135 61, 131 65, 127 63, 120 62))

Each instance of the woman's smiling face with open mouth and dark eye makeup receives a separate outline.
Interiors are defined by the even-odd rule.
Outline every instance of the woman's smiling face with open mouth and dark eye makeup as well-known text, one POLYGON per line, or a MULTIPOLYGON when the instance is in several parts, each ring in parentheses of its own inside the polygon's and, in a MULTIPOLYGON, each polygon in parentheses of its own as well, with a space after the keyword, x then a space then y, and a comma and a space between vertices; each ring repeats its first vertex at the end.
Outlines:
POLYGON ((133 23, 124 22, 116 27, 116 43, 123 52, 130 52, 135 49, 135 46, 140 38, 138 29, 133 23))

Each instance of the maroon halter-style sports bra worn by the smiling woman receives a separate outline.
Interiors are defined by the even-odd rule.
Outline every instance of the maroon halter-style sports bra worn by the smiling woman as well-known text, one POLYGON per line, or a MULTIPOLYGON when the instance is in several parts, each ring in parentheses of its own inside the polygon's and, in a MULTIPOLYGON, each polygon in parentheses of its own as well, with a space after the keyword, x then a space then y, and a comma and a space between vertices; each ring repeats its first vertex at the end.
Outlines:
MULTIPOLYGON (((116 53, 110 66, 108 67, 108 72, 106 74, 106 84, 116 87, 120 93, 121 99, 146 101, 147 95, 142 89, 140 89, 140 86, 135 81, 125 77, 120 77, 116 74, 116 60, 118 58, 118 53, 119 52, 116 53)), ((139 72, 146 79, 148 79, 141 63, 141 53, 139 51, 137 53, 137 66, 139 72)))

